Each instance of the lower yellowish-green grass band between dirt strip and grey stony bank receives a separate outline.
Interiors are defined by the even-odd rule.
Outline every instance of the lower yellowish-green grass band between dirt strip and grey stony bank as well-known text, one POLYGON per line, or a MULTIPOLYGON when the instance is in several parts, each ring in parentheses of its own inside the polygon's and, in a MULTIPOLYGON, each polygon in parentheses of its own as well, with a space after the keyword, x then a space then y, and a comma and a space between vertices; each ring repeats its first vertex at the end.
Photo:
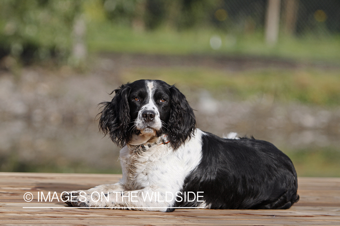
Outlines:
MULTIPOLYGON (((278 102, 340 105, 340 70, 261 69, 229 72, 212 68, 140 67, 122 71, 122 82, 159 79, 191 90, 207 89, 215 97, 249 100, 267 95, 278 102)), ((185 92, 185 90, 184 90, 185 92)))

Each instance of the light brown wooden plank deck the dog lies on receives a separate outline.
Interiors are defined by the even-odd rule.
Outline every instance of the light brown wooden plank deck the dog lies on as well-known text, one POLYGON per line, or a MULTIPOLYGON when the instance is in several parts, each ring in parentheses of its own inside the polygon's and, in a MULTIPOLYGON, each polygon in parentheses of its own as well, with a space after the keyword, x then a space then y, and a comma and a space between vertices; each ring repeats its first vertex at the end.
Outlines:
POLYGON ((52 198, 54 191, 60 194, 114 183, 120 176, 0 172, 0 225, 340 225, 340 178, 299 178, 300 201, 287 210, 176 209, 163 213, 67 209, 60 208, 66 205, 56 199, 37 200, 38 192, 51 191, 52 198), (34 196, 31 202, 24 201, 26 192, 34 196))

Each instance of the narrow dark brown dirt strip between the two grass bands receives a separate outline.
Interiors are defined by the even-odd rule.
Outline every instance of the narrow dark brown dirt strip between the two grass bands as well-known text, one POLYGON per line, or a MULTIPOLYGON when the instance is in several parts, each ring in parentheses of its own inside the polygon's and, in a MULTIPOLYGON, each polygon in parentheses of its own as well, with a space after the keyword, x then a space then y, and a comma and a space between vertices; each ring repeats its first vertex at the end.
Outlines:
MULTIPOLYGON (((112 61, 115 66, 122 67, 212 67, 231 71, 262 69, 262 68, 282 68, 295 69, 314 67, 320 69, 340 69, 340 65, 326 62, 298 62, 288 59, 258 57, 258 56, 223 56, 223 55, 148 55, 148 54, 100 54, 101 59, 112 61)), ((108 63, 108 62, 107 62, 108 63)))

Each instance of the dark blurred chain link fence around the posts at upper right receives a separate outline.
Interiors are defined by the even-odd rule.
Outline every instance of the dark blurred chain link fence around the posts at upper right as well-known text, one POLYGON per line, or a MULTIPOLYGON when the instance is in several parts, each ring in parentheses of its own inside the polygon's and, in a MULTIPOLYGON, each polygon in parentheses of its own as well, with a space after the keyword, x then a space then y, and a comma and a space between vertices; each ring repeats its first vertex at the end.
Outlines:
POLYGON ((279 35, 320 37, 340 32, 338 0, 224 0, 212 23, 230 33, 248 34, 265 31, 266 22, 275 16, 279 35))

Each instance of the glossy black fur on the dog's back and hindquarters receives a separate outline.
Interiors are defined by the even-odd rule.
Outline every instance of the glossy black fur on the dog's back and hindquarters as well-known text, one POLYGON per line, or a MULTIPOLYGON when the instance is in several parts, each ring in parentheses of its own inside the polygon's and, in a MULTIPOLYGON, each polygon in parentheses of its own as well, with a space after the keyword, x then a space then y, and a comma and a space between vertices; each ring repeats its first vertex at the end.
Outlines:
POLYGON ((273 144, 211 133, 202 136, 201 162, 186 178, 183 191, 203 191, 211 209, 288 209, 299 200, 294 166, 273 144))

